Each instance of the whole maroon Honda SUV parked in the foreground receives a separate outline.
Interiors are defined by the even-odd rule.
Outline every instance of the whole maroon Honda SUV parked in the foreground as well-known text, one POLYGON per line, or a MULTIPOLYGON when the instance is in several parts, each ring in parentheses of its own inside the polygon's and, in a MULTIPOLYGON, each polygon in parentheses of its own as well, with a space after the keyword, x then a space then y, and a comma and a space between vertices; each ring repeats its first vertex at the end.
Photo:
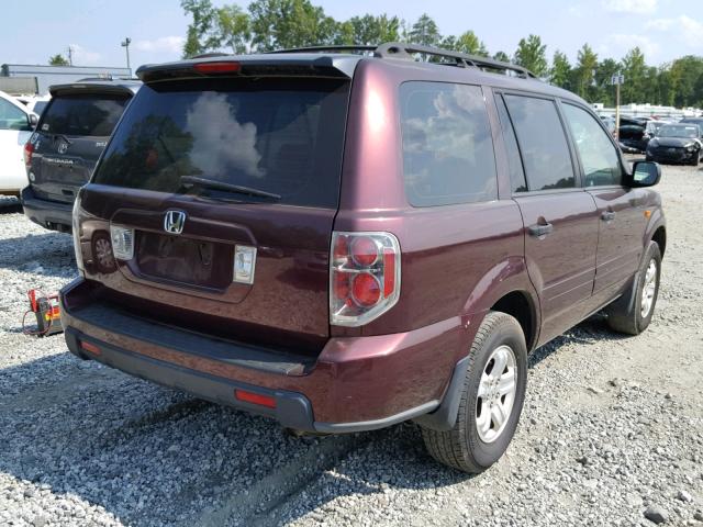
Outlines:
POLYGON ((415 419, 484 470, 529 350, 603 307, 649 324, 659 167, 520 67, 337 52, 140 68, 76 201, 68 347, 300 431, 415 419))

